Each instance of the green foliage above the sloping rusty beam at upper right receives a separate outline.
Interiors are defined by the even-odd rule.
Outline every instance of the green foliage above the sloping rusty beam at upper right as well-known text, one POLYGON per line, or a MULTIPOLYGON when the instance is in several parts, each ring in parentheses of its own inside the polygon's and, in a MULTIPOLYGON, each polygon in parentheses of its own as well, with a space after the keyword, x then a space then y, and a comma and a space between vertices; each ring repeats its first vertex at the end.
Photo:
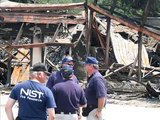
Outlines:
MULTIPOLYGON (((144 13, 148 0, 99 0, 99 4, 111 8, 113 1, 116 1, 115 11, 128 17, 140 17, 144 13)), ((160 0, 152 0, 149 16, 160 13, 160 0)))

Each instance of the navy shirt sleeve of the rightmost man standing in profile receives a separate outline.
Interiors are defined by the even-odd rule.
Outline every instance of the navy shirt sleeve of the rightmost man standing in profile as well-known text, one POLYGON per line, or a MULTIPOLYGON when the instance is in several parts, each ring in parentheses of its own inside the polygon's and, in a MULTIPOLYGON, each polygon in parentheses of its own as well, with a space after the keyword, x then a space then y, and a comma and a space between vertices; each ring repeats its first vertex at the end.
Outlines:
POLYGON ((96 90, 96 97, 97 98, 106 97, 107 92, 104 80, 100 77, 96 77, 94 82, 95 82, 94 87, 96 90))

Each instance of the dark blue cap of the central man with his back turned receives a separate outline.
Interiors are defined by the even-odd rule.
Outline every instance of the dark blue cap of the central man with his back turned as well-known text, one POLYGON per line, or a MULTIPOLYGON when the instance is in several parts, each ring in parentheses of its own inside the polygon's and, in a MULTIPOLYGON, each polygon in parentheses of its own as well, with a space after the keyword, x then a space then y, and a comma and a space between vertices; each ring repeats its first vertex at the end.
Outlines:
POLYGON ((73 75, 74 70, 72 66, 65 65, 62 67, 61 72, 64 78, 70 78, 73 75))

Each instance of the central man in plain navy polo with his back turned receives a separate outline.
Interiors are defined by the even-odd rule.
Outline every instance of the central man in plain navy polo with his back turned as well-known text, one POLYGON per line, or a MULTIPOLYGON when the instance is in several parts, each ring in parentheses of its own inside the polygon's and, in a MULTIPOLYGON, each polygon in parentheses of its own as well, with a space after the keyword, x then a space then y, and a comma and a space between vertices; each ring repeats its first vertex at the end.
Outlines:
POLYGON ((65 81, 51 89, 57 104, 56 120, 78 120, 79 108, 86 105, 84 91, 72 79, 73 67, 66 65, 61 72, 65 81))

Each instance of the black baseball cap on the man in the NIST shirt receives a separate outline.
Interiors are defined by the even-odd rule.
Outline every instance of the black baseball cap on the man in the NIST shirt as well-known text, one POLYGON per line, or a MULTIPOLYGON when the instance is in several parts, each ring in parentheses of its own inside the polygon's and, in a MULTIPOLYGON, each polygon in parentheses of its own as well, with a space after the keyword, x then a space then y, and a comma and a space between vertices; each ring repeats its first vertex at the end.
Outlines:
POLYGON ((50 72, 48 72, 47 67, 44 63, 36 63, 30 68, 30 70, 37 71, 37 72, 42 71, 42 72, 46 73, 47 75, 51 74, 50 72))

